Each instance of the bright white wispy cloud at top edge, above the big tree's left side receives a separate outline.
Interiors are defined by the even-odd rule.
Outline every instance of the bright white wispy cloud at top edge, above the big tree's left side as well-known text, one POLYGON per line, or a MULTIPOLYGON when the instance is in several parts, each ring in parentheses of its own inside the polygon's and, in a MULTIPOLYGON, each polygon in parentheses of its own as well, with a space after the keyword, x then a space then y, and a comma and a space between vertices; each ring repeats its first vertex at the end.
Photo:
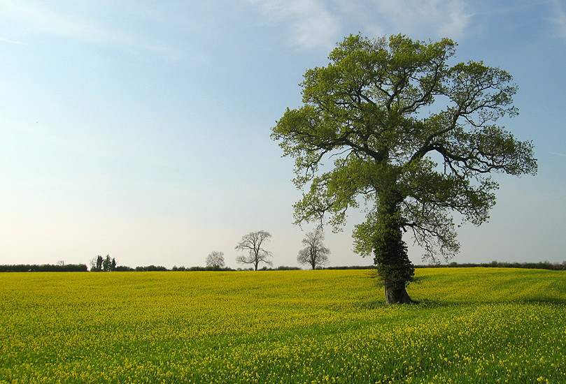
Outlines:
POLYGON ((320 0, 248 0, 272 23, 290 22, 290 43, 306 49, 334 47, 339 18, 320 0))

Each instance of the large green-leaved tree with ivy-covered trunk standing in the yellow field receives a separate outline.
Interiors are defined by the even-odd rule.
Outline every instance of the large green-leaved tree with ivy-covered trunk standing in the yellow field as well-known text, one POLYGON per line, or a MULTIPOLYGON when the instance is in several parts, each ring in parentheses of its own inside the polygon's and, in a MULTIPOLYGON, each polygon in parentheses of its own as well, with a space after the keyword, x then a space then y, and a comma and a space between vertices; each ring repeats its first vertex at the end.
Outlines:
POLYGON ((537 171, 532 143, 495 124, 517 114, 511 75, 481 61, 451 65, 455 47, 448 38, 349 36, 327 66, 306 71, 303 105, 272 130, 304 191, 297 223, 327 217, 338 229, 348 208, 365 205, 355 250, 374 254, 388 303, 411 302, 404 232, 425 257, 449 258, 459 249, 453 213, 488 219, 493 172, 537 171))

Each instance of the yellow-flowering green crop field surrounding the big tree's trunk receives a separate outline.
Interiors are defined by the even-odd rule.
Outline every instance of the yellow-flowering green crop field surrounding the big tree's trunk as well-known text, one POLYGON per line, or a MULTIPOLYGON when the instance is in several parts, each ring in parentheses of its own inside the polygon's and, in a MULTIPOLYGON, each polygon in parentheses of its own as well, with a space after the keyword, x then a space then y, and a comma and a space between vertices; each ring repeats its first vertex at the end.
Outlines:
POLYGON ((566 383, 566 273, 0 274, 0 383, 566 383))

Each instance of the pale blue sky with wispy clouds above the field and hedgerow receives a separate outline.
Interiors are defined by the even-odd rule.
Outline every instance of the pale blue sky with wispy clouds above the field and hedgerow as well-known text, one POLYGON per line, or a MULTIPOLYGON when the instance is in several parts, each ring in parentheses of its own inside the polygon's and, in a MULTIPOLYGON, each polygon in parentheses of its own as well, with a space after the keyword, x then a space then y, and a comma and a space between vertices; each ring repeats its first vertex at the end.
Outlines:
MULTIPOLYGON (((539 174, 496 177, 453 261, 566 260, 566 1, 0 0, 0 15, 0 264, 223 251, 237 267, 241 236, 268 230, 274 265, 297 265, 300 193, 270 128, 358 31, 447 36, 457 61, 514 75, 520 115, 500 122, 533 140, 539 174)), ((361 217, 328 228, 332 265, 372 264, 352 252, 361 217)))

